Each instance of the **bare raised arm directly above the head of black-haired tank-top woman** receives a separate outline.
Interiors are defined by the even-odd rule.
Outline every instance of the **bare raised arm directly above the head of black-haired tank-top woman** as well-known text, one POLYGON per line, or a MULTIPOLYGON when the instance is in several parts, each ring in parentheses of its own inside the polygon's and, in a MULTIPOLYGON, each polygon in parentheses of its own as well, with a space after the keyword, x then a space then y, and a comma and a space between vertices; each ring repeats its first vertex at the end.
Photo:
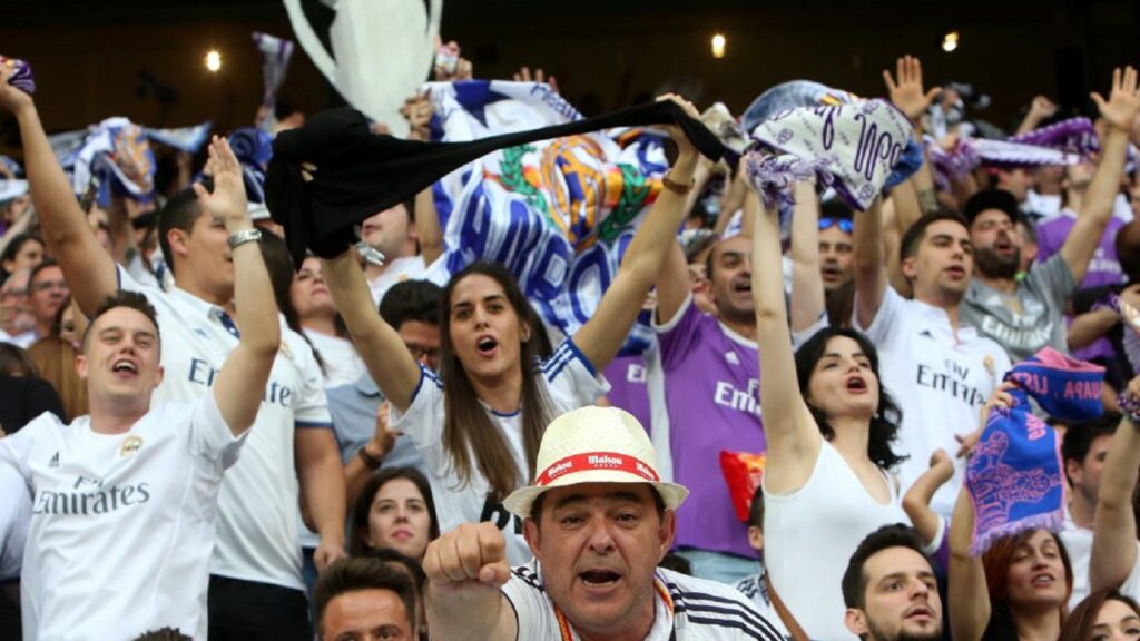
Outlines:
POLYGON ((796 182, 795 190, 796 208, 791 213, 791 331, 803 332, 823 314, 820 196, 815 193, 814 182, 808 180, 796 182))

